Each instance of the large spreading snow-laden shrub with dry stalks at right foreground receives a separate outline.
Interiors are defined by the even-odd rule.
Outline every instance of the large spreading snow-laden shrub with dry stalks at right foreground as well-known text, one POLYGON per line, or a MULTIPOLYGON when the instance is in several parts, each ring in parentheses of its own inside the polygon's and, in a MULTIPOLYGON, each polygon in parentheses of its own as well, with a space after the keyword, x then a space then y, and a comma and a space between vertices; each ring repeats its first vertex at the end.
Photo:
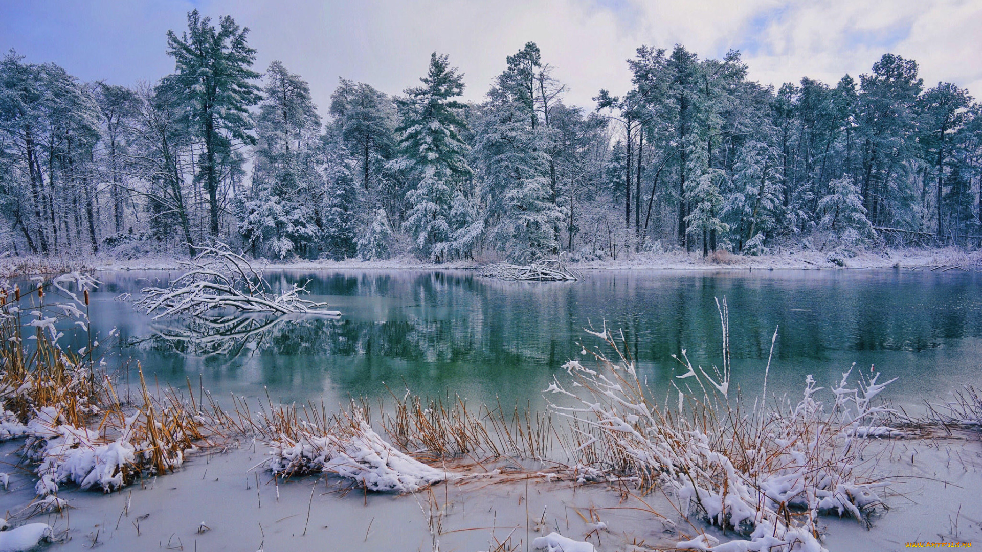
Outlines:
POLYGON ((863 520, 880 504, 876 491, 886 483, 860 468, 860 437, 884 434, 879 428, 894 413, 873 400, 894 380, 856 374, 851 383, 849 368, 832 386, 828 404, 817 399, 823 388, 808 376, 800 400, 748 407, 730 388, 725 301, 720 315, 722 367, 693 367, 682 351, 683 373, 673 377, 678 402, 659 405, 651 397, 624 340, 615 340, 605 326, 589 333, 612 348, 615 359, 595 349, 595 369, 568 362, 564 368, 573 381, 557 378, 547 391, 572 406, 552 408, 579 428, 580 462, 635 477, 642 489, 661 485, 674 493, 683 516, 742 535, 720 544, 698 534, 679 548, 822 550, 820 515, 863 520))

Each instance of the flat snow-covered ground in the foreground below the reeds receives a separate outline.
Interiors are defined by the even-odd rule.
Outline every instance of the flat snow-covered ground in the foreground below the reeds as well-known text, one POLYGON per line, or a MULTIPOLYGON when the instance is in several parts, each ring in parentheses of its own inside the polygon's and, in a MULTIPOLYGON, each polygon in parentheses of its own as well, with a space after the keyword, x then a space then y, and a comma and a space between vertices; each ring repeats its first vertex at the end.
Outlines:
MULTIPOLYGON (((899 551, 913 540, 982 542, 978 493, 982 488, 982 442, 977 436, 967 441, 877 443, 874 446, 887 449, 878 470, 895 483, 895 492, 884 499, 890 511, 874 517, 869 528, 854 520, 823 519, 828 550, 899 551)), ((0 452, 12 453, 16 446, 7 443, 0 452)), ((0 509, 9 512, 13 526, 39 522, 54 527, 55 537, 64 542, 51 545, 52 550, 89 550, 93 544, 106 551, 180 550, 182 546, 199 552, 434 550, 427 523, 427 492, 398 496, 355 490, 343 495, 337 484, 328 486, 317 477, 276 484, 262 471, 257 493, 255 473, 249 469, 262 460, 263 452, 260 445, 255 451, 235 449, 194 456, 176 473, 108 495, 62 491, 60 496, 73 507, 67 515, 46 514, 30 520, 17 513, 33 498, 33 481, 11 470, 10 490, 0 492, 0 509)), ((533 480, 526 491, 521 481, 474 480, 436 485, 432 497, 438 512, 434 521, 442 524, 441 550, 489 550, 497 546, 495 538, 504 541, 511 535, 518 544, 554 531, 576 541, 586 540, 598 552, 639 550, 631 546, 643 542, 671 547, 685 534, 694 533, 658 492, 644 499, 668 522, 644 512, 644 505, 633 498, 622 501, 606 485, 573 488, 569 483, 533 480), (591 509, 606 530, 594 530, 598 524, 589 523, 591 509)), ((721 541, 733 537, 712 528, 708 531, 721 541)))

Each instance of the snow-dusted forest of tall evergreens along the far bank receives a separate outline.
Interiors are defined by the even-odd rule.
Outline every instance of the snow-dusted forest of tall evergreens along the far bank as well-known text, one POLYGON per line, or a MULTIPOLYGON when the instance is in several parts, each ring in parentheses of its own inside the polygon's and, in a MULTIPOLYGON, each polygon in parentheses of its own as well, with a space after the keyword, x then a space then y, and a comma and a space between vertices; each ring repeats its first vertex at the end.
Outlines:
POLYGON ((642 46, 632 87, 582 108, 529 42, 480 103, 434 53, 399 94, 340 79, 322 120, 247 38, 191 12, 167 34, 174 72, 136 87, 8 53, 3 249, 440 262, 982 240, 980 106, 897 55, 775 89, 736 51, 642 46))

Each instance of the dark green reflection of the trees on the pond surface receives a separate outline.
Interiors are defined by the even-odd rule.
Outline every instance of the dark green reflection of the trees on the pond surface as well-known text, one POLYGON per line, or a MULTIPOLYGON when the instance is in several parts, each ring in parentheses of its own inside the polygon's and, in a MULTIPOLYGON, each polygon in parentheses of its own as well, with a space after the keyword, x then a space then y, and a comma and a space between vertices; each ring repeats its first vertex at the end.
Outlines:
MULTIPOLYGON (((146 346, 196 355, 316 355, 461 362, 478 368, 516 364, 555 368, 575 357, 587 319, 623 329, 640 361, 671 362, 687 348, 717 358, 713 298, 734 312, 735 359, 766 359, 781 326, 776 359, 826 359, 832 352, 922 351, 947 339, 978 335, 972 286, 900 280, 888 286, 859 278, 737 278, 727 275, 591 275, 574 285, 501 282, 464 272, 281 273, 275 285, 311 278, 315 297, 348 301, 342 320, 274 317, 197 318, 163 327, 146 346), (800 279, 800 282, 794 281, 800 279), (924 295, 941 298, 906 301, 924 295), (899 303, 903 307, 899 307, 899 303), (970 303, 966 301, 965 303, 970 303)), ((133 341, 132 341, 133 343, 133 341)), ((718 360, 718 359, 717 359, 718 360)))

